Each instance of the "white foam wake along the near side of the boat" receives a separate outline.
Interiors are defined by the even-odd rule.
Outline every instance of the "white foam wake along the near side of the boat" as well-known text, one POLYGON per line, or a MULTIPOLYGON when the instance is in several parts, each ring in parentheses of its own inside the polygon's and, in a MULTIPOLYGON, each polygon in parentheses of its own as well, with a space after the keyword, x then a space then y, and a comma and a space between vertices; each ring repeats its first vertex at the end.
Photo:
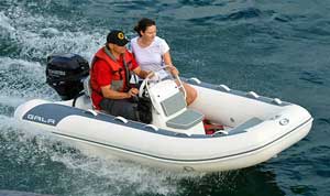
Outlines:
MULTIPOLYGON (((204 175, 174 173, 121 160, 89 157, 51 134, 23 126, 13 118, 0 116, 0 122, 6 122, 0 126, 0 138, 4 142, 0 151, 8 151, 7 156, 21 166, 34 165, 45 170, 57 165, 53 168, 56 172, 54 179, 56 186, 66 189, 65 195, 173 195, 183 178, 204 175), (67 176, 58 178, 58 173, 67 176), (67 177, 73 181, 68 183, 67 177)), ((43 175, 42 171, 37 175, 43 175)))

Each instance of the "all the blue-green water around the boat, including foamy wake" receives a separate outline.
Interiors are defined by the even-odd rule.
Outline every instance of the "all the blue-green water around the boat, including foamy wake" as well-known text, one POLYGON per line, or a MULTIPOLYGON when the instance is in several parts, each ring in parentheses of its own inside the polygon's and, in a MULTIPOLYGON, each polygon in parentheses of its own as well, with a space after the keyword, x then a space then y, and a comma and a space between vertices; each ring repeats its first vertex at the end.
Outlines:
POLYGON ((330 1, 0 1, 0 189, 50 195, 330 195, 330 1), (13 118, 45 84, 52 53, 90 61, 109 29, 134 36, 156 20, 185 77, 278 97, 308 109, 309 135, 278 157, 226 173, 190 174, 88 157, 13 118))

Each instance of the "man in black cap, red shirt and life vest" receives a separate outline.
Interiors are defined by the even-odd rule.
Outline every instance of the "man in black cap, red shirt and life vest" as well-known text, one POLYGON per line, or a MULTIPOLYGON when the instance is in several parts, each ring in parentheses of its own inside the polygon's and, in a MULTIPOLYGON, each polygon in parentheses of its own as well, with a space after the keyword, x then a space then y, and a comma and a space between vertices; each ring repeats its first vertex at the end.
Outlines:
POLYGON ((139 90, 130 88, 130 72, 141 78, 148 73, 140 68, 125 48, 128 42, 122 31, 111 31, 106 45, 95 54, 90 69, 91 99, 96 109, 138 120, 136 104, 132 102, 132 98, 139 90))

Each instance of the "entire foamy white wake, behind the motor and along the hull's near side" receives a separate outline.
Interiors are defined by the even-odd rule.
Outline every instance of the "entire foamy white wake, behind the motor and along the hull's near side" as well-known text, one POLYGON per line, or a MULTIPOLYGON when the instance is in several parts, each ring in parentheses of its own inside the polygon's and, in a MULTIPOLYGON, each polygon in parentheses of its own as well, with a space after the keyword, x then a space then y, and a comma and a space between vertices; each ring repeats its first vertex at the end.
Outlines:
POLYGON ((195 174, 88 157, 12 118, 14 108, 26 100, 58 99, 45 84, 46 55, 72 51, 90 59, 105 40, 106 30, 79 31, 75 21, 34 12, 32 7, 13 3, 0 11, 0 48, 7 53, 0 57, 0 155, 6 165, 0 167, 0 189, 23 186, 20 190, 55 195, 175 193, 178 181, 195 174))

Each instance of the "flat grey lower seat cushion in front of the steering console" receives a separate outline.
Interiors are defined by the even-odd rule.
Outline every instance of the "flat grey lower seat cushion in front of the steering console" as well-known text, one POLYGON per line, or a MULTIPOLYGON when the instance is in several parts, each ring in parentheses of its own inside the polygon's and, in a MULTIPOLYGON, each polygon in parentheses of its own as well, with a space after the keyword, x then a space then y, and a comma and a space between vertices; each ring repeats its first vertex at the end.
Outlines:
POLYGON ((177 117, 169 119, 166 126, 174 129, 189 129, 197 123, 201 122, 204 115, 191 109, 187 109, 177 117))

